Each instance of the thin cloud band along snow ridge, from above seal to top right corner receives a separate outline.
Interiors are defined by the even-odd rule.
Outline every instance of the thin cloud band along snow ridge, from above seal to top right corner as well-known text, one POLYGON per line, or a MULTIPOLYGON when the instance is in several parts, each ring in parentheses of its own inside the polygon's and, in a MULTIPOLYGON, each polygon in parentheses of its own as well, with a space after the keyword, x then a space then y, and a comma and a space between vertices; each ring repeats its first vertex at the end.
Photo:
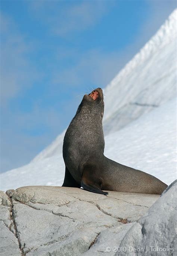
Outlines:
MULTIPOLYGON (((64 70, 55 70, 52 83, 56 85, 75 86, 83 85, 88 87, 88 80, 95 86, 106 86, 118 71, 133 58, 133 56, 142 48, 145 43, 156 33, 159 27, 168 18, 175 7, 174 1, 149 1, 152 9, 149 19, 143 23, 139 32, 132 42, 120 51, 105 52, 102 49, 92 49, 81 54, 78 49, 58 49, 58 58, 71 55, 73 58, 77 55, 77 62, 64 70)), ((121 39, 120 39, 121 40, 121 39)))

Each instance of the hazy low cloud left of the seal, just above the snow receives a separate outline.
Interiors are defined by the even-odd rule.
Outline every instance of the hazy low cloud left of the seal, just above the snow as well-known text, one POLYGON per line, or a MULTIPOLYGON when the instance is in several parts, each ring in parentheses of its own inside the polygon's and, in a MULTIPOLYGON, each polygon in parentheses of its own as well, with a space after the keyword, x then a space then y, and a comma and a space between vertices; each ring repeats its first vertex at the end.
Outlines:
POLYGON ((6 108, 0 131, 1 171, 27 164, 58 135, 62 113, 42 109, 38 103, 29 113, 12 113, 6 108))

